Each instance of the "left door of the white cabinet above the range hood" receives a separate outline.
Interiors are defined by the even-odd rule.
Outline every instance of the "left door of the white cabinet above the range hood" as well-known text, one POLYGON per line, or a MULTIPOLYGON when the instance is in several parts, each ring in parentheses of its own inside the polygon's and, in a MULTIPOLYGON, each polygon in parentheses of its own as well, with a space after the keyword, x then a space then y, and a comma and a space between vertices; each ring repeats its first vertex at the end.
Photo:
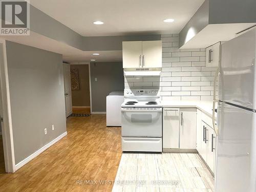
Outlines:
POLYGON ((142 41, 123 41, 123 68, 142 67, 142 41))

